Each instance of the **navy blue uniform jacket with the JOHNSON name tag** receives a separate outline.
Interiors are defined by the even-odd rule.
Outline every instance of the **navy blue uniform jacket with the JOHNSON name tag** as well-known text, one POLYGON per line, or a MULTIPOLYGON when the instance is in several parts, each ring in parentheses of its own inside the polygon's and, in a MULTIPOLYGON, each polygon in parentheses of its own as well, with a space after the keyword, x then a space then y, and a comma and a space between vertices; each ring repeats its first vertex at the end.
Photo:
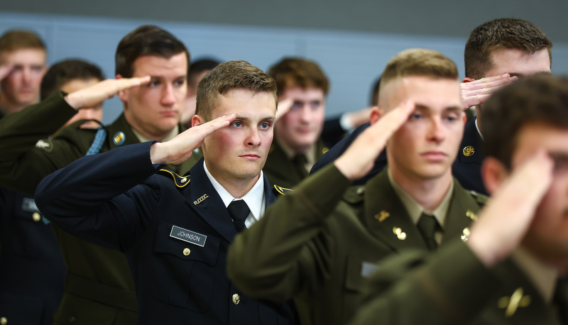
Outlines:
MULTIPOLYGON (((291 324, 288 304, 245 297, 226 277, 236 229, 202 160, 174 182, 155 175, 150 146, 87 156, 45 177, 35 194, 40 211, 70 233, 126 254, 138 324, 291 324), (180 232, 194 237, 175 238, 180 232)), ((275 197, 266 178, 264 190, 268 206, 275 197)))

